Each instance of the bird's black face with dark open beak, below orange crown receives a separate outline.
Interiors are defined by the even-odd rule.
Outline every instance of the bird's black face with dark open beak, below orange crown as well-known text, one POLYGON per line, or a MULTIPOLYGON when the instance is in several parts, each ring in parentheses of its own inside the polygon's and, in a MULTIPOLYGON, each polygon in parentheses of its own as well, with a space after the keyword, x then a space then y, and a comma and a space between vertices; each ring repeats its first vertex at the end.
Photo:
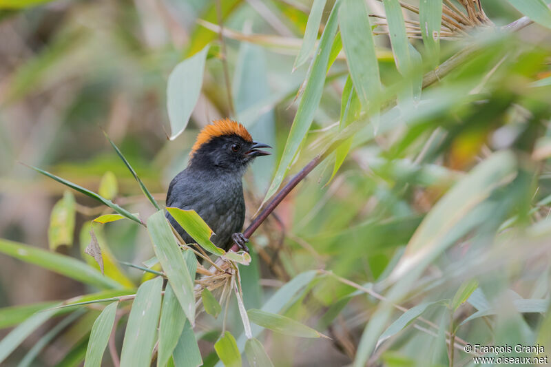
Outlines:
POLYGON ((192 161, 194 165, 214 165, 243 174, 254 158, 271 154, 260 148, 271 147, 263 143, 248 142, 237 135, 217 136, 197 149, 192 161))

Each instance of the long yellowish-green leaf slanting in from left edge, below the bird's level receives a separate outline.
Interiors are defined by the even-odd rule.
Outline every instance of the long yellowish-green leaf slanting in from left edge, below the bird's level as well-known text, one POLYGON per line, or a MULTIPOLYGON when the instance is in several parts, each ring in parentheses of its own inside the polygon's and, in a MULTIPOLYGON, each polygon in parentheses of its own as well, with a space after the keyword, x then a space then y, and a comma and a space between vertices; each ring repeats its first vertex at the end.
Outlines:
POLYGON ((41 266, 55 273, 65 275, 79 282, 97 286, 98 288, 121 289, 124 287, 123 284, 116 282, 116 280, 103 276, 99 271, 85 262, 59 253, 52 253, 2 238, 0 238, 0 252, 6 253, 6 255, 10 255, 24 262, 41 266))

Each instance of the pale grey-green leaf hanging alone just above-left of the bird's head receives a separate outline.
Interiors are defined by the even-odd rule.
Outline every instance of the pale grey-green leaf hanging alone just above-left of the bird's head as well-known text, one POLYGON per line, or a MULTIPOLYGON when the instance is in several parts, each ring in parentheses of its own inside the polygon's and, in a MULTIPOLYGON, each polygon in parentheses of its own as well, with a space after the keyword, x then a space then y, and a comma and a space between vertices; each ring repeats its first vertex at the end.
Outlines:
POLYGON ((206 45, 200 52, 176 65, 168 77, 167 109, 170 120, 170 140, 174 140, 184 131, 199 99, 208 52, 209 45, 206 45))

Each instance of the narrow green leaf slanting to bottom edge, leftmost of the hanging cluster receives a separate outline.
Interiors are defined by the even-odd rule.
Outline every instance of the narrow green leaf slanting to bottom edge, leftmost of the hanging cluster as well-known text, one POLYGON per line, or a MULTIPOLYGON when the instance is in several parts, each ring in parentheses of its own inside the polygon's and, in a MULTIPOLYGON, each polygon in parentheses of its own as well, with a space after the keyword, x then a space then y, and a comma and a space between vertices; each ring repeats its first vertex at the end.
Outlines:
POLYGON ((107 307, 103 308, 103 311, 99 314, 94 326, 92 326, 92 333, 88 340, 88 347, 86 350, 86 357, 84 359, 84 367, 99 367, 101 366, 101 359, 103 352, 109 342, 111 331, 113 330, 113 324, 115 323, 116 306, 118 302, 113 302, 107 307))

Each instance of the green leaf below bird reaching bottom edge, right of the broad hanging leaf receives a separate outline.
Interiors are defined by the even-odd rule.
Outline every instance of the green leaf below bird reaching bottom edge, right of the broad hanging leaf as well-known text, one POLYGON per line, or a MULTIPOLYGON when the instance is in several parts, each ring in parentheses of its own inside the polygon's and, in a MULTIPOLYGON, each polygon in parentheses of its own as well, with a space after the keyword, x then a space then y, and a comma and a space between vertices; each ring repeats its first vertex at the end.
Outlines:
POLYGON ((167 365, 176 344, 178 344, 178 339, 182 335, 185 322, 182 306, 174 295, 172 287, 168 284, 165 289, 165 297, 163 297, 163 308, 160 312, 157 367, 167 365))

